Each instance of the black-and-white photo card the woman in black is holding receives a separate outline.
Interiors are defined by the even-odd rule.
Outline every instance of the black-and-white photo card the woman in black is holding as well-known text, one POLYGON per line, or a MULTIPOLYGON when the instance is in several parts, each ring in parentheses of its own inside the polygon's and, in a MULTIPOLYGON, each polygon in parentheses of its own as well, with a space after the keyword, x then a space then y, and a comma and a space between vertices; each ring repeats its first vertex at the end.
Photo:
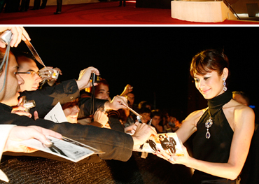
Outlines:
POLYGON ((169 155, 183 155, 181 143, 176 133, 158 134, 158 137, 151 136, 137 151, 155 153, 158 148, 165 150, 169 155))

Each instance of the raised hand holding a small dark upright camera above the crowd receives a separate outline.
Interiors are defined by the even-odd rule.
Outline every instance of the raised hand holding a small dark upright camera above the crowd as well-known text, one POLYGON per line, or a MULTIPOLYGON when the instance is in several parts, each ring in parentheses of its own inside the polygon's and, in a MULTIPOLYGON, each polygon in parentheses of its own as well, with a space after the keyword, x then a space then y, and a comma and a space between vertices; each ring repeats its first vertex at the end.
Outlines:
MULTIPOLYGON (((92 83, 90 83, 90 78, 92 73, 95 73, 97 76, 100 75, 99 71, 92 66, 80 71, 79 78, 76 81, 79 90, 83 90, 85 88, 92 86, 92 83)), ((94 83, 94 85, 98 85, 98 84, 94 83)))

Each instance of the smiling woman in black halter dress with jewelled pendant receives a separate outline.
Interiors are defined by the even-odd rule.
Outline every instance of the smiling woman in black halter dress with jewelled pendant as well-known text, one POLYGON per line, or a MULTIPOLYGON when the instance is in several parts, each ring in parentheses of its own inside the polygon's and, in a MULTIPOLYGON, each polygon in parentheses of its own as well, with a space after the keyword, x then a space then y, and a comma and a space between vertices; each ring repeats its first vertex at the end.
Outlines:
POLYGON ((163 150, 157 153, 172 164, 195 169, 193 183, 239 183, 248 155, 255 115, 232 99, 225 82, 228 73, 228 58, 217 50, 204 50, 193 57, 190 74, 209 107, 188 115, 176 131, 183 143, 196 132, 193 157, 184 146, 184 156, 170 156, 163 150))

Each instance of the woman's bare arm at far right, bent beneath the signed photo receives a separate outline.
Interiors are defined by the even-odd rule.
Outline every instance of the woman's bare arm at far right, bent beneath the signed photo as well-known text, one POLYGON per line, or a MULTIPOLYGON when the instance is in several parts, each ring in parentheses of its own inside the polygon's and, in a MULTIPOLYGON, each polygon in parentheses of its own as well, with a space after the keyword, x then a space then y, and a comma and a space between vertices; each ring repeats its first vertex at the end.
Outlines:
MULTIPOLYGON (((184 164, 186 167, 191 167, 207 174, 235 180, 237 176, 239 176, 246 161, 255 123, 254 113, 251 108, 243 106, 243 108, 235 109, 232 113, 235 127, 228 163, 213 163, 196 160, 188 155, 184 146, 183 150, 185 155, 173 156, 172 163, 184 164)), ((183 139, 183 136, 181 136, 181 138, 183 139)), ((166 159, 169 159, 169 155, 166 155, 166 159)))

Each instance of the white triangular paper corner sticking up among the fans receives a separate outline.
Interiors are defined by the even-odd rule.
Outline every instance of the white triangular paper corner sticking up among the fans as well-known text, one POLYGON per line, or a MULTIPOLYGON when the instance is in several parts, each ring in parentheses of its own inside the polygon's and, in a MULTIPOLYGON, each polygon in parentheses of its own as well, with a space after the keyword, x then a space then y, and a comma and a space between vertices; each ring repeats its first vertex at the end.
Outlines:
POLYGON ((60 103, 57 103, 51 111, 45 115, 45 120, 50 120, 52 122, 60 123, 60 122, 67 122, 66 116, 64 115, 64 111, 60 103))

